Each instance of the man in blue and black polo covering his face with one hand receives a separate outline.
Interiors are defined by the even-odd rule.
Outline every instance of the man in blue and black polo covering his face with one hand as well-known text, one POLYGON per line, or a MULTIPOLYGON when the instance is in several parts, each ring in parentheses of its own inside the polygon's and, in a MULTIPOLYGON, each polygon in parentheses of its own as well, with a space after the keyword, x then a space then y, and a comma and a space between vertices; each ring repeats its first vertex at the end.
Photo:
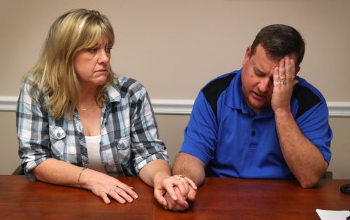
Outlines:
MULTIPOLYGON (((330 162, 332 130, 325 99, 297 77, 304 40, 287 25, 260 30, 243 67, 209 82, 198 95, 173 174, 197 186, 204 177, 296 178, 311 188, 330 162)), ((195 190, 170 200, 186 209, 195 190)))

